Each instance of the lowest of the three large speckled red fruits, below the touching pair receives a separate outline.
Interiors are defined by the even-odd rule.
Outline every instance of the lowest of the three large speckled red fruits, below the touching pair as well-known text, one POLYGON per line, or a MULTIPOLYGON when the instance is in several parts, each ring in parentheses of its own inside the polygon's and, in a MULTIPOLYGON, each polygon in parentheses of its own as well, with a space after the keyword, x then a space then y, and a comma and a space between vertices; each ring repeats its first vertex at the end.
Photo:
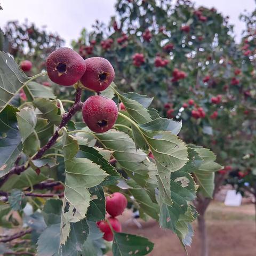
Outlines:
POLYGON ((116 103, 106 97, 95 95, 88 98, 82 108, 84 122, 93 132, 106 132, 116 122, 118 108, 116 103))

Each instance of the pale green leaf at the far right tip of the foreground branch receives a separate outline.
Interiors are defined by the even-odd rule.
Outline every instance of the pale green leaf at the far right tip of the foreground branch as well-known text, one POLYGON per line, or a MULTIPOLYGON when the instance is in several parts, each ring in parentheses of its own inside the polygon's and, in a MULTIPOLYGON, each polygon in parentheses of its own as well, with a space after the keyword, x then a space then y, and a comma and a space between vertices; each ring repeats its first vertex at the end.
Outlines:
POLYGON ((215 162, 216 156, 210 149, 189 145, 201 159, 203 163, 194 170, 194 174, 200 191, 206 197, 212 198, 214 190, 214 172, 221 169, 221 165, 215 162))

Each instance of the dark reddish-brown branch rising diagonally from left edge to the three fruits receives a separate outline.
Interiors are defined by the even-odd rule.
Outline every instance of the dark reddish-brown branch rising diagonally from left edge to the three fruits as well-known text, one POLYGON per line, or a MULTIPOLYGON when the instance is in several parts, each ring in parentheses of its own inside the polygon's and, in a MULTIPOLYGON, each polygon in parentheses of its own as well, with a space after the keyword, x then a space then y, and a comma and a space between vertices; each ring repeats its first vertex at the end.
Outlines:
MULTIPOLYGON (((59 138, 60 129, 67 125, 67 123, 70 121, 70 119, 75 115, 75 113, 78 110, 82 109, 83 103, 81 102, 81 95, 82 95, 82 89, 77 89, 76 90, 76 99, 75 99, 75 102, 74 102, 73 106, 70 108, 70 110, 68 111, 67 114, 64 114, 62 116, 62 119, 61 119, 60 125, 58 126, 57 131, 55 131, 52 138, 46 143, 46 145, 38 150, 37 154, 32 158, 33 160, 41 158, 43 156, 43 154, 45 153, 45 151, 50 149, 54 145, 56 140, 59 138)), ((3 186, 5 181, 7 179, 9 179, 11 175, 13 175, 13 174, 18 174, 19 175, 20 173, 25 171, 28 167, 29 167, 29 165, 27 165, 27 166, 26 165, 20 165, 20 166, 12 167, 11 171, 9 173, 7 173, 0 180, 0 187, 3 186)))

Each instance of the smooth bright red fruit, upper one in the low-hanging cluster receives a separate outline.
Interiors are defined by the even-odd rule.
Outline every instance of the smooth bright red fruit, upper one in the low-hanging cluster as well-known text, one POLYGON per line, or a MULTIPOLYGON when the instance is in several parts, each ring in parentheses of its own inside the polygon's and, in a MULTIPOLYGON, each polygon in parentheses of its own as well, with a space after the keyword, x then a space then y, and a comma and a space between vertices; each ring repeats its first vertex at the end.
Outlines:
POLYGON ((106 211, 112 217, 121 215, 126 207, 127 199, 123 194, 116 192, 106 197, 106 211))

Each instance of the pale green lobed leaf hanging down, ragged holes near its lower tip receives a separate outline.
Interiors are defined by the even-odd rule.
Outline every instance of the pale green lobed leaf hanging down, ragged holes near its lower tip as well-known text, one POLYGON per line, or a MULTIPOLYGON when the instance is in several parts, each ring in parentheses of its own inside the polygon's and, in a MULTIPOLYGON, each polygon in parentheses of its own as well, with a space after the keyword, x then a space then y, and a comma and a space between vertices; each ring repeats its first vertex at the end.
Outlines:
POLYGON ((63 155, 65 158, 66 186, 61 214, 61 244, 66 243, 70 222, 78 222, 85 218, 91 201, 91 194, 88 189, 99 185, 108 175, 101 169, 100 165, 93 163, 90 159, 75 157, 77 151, 77 140, 64 130, 63 155))

